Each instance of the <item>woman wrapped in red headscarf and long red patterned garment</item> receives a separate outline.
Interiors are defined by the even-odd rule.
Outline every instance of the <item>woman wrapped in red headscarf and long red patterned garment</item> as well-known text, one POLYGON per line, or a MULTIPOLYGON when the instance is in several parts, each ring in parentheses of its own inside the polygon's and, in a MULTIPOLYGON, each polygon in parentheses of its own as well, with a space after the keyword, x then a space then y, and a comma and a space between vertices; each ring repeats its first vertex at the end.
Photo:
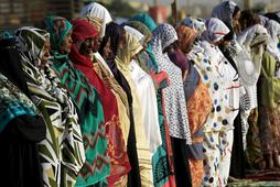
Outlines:
POLYGON ((108 185, 114 186, 114 184, 118 182, 120 177, 125 176, 130 169, 125 148, 125 141, 120 129, 117 100, 111 90, 95 72, 90 59, 90 55, 99 48, 99 44, 96 41, 98 38, 98 32, 84 20, 74 20, 72 21, 72 24, 73 44, 71 47, 69 58, 74 66, 84 73, 89 82, 100 95, 104 108, 106 135, 109 142, 108 155, 111 163, 108 185))

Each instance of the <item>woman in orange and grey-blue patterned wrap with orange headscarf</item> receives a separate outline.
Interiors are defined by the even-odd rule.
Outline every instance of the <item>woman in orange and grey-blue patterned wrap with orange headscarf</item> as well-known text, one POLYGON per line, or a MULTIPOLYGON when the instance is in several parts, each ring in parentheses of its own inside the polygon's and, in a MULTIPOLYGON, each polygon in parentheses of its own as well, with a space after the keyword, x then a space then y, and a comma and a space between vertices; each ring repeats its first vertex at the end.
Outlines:
MULTIPOLYGON (((184 94, 187 106, 187 117, 192 134, 192 145, 187 147, 189 162, 192 175, 192 186, 201 186, 203 179, 203 129, 207 116, 212 110, 212 100, 208 89, 203 84, 194 65, 187 61, 197 33, 184 25, 176 29, 179 36, 179 51, 169 54, 170 58, 187 74, 184 80, 184 94), (182 53, 182 52, 184 53, 182 53), (186 55, 186 57, 184 56, 186 55)), ((192 61, 192 59, 190 59, 192 61)))

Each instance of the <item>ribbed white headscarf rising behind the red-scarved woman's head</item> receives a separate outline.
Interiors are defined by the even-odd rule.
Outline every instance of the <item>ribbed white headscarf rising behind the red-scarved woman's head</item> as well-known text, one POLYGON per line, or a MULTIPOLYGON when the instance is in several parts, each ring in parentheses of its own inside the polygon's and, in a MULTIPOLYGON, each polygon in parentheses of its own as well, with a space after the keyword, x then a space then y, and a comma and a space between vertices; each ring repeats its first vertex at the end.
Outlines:
POLYGON ((109 11, 97 2, 91 2, 84 7, 80 11, 80 16, 88 15, 89 18, 99 18, 103 20, 103 26, 100 31, 100 36, 105 35, 105 29, 108 23, 112 21, 109 11))

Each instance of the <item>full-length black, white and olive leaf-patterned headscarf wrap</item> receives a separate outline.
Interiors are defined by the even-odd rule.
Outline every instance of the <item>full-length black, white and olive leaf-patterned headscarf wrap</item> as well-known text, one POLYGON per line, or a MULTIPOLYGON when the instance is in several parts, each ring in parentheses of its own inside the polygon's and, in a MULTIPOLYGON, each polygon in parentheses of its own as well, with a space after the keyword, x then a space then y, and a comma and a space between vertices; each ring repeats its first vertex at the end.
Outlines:
POLYGON ((25 26, 17 30, 15 36, 32 101, 42 112, 47 128, 46 140, 39 144, 44 183, 50 185, 50 179, 55 176, 61 177, 56 178, 58 186, 64 179, 74 185, 68 178, 76 179, 72 174, 77 175, 85 162, 84 144, 78 117, 67 90, 61 86, 53 69, 49 65, 42 68, 37 59, 41 58, 49 33, 25 26))

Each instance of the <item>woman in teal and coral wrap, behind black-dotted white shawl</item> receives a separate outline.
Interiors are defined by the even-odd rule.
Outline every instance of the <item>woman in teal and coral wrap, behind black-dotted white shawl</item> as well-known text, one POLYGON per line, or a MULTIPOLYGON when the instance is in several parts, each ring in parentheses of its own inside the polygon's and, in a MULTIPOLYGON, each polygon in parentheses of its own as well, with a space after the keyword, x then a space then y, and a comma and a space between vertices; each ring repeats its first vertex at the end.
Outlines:
MULTIPOLYGON (((165 72, 159 72, 158 63, 154 59, 152 48, 150 45, 150 40, 152 36, 152 31, 146 24, 155 25, 150 16, 144 16, 143 23, 140 21, 129 21, 126 25, 137 29, 141 34, 144 35, 144 51, 139 55, 138 62, 143 70, 146 70, 151 78, 155 89, 158 90, 158 118, 161 130, 162 145, 158 147, 157 152, 152 156, 152 168, 153 168, 153 184, 155 186, 174 186, 174 169, 173 169, 173 158, 172 148, 169 135, 169 129, 166 125, 166 120, 164 123, 164 117, 162 111, 162 94, 161 89, 168 86, 168 75, 165 72), (146 24, 144 24, 146 23, 146 24), (148 44, 147 44, 148 43, 148 44)), ((151 26, 150 26, 151 28, 151 26)))

